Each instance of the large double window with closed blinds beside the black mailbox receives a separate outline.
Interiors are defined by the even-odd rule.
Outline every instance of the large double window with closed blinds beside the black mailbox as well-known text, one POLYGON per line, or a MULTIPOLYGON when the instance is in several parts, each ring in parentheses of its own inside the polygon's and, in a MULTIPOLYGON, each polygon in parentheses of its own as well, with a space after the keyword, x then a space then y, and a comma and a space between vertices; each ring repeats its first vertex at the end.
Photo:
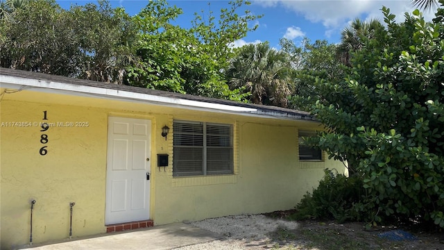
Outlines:
POLYGON ((233 173, 231 124, 173 122, 173 176, 233 173))

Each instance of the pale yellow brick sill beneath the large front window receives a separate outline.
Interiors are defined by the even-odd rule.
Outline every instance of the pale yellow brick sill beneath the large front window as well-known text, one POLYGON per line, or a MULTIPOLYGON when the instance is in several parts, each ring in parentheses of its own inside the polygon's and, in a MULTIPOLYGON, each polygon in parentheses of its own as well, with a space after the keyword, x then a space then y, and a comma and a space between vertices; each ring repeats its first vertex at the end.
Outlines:
POLYGON ((216 174, 207 176, 173 176, 172 183, 173 187, 232 184, 237 183, 237 175, 216 174))

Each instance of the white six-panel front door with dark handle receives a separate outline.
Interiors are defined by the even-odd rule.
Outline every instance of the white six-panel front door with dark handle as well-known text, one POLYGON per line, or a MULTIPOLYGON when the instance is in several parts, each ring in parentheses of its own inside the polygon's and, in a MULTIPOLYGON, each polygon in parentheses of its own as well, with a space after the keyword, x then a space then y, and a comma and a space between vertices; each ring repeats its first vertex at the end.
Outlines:
POLYGON ((105 224, 150 217, 151 121, 108 118, 105 224))

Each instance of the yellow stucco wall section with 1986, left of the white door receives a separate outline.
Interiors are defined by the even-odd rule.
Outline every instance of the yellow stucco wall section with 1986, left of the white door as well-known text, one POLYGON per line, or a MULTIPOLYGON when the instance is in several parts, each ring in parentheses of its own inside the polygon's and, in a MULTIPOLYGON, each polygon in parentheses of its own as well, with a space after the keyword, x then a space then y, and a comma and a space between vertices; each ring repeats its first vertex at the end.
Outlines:
POLYGON ((103 232, 107 114, 96 108, 1 101, 1 247, 26 244, 30 200, 35 242, 67 238, 69 202, 76 235, 103 232), (48 122, 87 121, 88 127, 50 127, 48 122), (31 126, 5 125, 31 122, 31 126), (33 123, 37 123, 35 126, 33 123), (42 144, 41 136, 48 142, 42 144), (47 146, 45 156, 40 148, 47 146))

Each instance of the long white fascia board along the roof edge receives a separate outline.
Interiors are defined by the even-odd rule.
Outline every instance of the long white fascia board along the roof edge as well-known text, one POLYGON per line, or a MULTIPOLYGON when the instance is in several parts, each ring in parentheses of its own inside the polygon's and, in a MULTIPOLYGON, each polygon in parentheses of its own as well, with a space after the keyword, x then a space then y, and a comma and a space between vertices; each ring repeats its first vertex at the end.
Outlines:
POLYGON ((220 103, 207 103, 205 101, 193 101, 173 97, 160 97, 153 94, 142 94, 123 90, 113 90, 70 83, 44 81, 39 79, 22 78, 17 76, 0 76, 0 87, 15 90, 33 89, 40 92, 64 93, 76 96, 102 97, 105 99, 130 100, 137 102, 148 102, 155 105, 186 108, 192 110, 204 110, 216 113, 230 113, 235 115, 268 117, 273 119, 302 119, 296 115, 283 115, 282 113, 266 112, 256 108, 230 106, 220 103))

